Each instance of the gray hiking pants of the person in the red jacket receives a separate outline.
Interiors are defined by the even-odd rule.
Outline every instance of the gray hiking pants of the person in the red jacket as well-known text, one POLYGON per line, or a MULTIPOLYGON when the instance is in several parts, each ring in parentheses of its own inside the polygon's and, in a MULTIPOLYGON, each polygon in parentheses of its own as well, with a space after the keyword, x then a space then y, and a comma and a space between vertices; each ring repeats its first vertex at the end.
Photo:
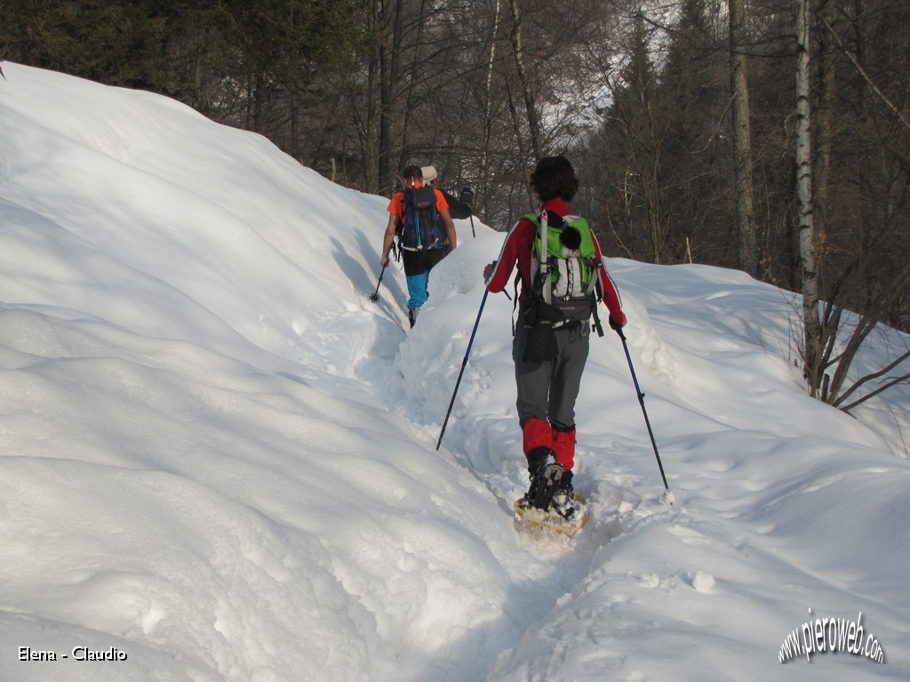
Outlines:
POLYGON ((522 428, 531 417, 545 419, 553 426, 575 426, 575 399, 581 388, 581 375, 588 360, 591 325, 581 325, 555 332, 556 358, 547 362, 524 362, 528 329, 521 325, 512 340, 515 361, 515 383, 518 387, 518 418, 522 428))

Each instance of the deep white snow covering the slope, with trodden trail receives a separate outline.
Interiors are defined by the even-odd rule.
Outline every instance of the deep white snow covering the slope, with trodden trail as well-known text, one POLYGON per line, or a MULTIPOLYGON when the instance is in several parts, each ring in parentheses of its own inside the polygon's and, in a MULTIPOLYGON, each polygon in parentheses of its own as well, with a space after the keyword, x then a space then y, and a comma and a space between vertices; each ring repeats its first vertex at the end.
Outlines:
POLYGON ((386 198, 163 97, 4 73, 0 679, 910 677, 910 389, 806 396, 794 296, 611 259, 672 496, 608 329, 591 521, 531 537, 501 233, 457 221, 405 329, 397 264, 369 301, 386 198), (828 639, 780 667, 835 618, 885 665, 828 639))

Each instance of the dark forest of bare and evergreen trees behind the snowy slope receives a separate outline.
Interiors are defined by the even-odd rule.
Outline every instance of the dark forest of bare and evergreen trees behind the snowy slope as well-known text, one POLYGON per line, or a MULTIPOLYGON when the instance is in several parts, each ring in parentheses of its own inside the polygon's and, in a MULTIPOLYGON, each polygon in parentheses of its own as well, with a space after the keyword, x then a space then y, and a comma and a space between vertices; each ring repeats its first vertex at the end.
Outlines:
POLYGON ((0 59, 173 97, 371 194, 435 165, 500 229, 534 207, 536 159, 568 155, 573 212, 610 256, 804 295, 811 277, 823 312, 794 304, 794 338, 833 405, 850 344, 910 330, 905 0, 0 0, 0 17, 0 59))

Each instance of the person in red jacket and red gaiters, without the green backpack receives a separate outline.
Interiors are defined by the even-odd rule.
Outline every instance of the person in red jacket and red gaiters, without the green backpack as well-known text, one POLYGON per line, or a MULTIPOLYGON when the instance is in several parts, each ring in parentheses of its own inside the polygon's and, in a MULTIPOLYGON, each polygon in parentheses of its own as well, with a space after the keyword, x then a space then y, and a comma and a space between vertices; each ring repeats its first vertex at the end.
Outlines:
MULTIPOLYGON (((519 220, 506 236, 499 259, 484 269, 487 290, 495 294, 508 286, 512 270, 518 266, 521 292, 512 359, 515 362, 524 454, 531 476, 531 488, 526 499, 530 506, 555 509, 562 517, 570 517, 573 513, 571 469, 575 458, 575 400, 588 359, 591 314, 597 320, 597 301, 592 300, 589 294, 586 307, 576 305, 573 308, 581 310, 580 313, 566 314, 564 317, 569 319, 547 323, 549 328, 546 333, 549 336, 543 337, 545 350, 541 354, 540 326, 533 324, 535 315, 531 309, 540 300, 534 286, 540 269, 534 245, 535 240, 541 243, 538 238, 541 217, 545 217, 550 225, 562 225, 565 222, 563 218, 570 216, 568 202, 575 196, 578 185, 578 178, 568 159, 563 156, 541 159, 531 175, 531 186, 541 201, 541 211, 534 216, 538 224, 535 225, 528 216, 519 220)), ((583 220, 579 224, 587 227, 583 220)), ((591 232, 590 228, 587 231, 591 232)), ((578 234, 576 229, 575 235, 578 234)), ((593 274, 589 276, 592 284, 589 283, 587 291, 596 292, 596 298, 602 300, 610 311, 611 326, 623 326, 626 317, 622 313, 620 297, 603 267, 601 247, 592 232, 588 245, 593 254, 590 258, 593 274)), ((538 288, 540 286, 538 284, 538 288)), ((579 297, 577 300, 583 299, 579 297)), ((565 308, 562 301, 554 303, 565 308)))

